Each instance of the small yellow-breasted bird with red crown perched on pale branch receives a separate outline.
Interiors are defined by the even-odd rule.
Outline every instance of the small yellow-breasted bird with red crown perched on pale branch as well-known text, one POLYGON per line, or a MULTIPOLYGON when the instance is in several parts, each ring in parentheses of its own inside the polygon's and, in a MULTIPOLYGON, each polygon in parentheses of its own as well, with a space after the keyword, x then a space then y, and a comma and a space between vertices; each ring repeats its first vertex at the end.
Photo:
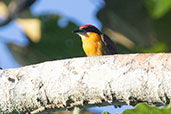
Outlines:
POLYGON ((82 48, 87 56, 117 54, 115 43, 91 24, 82 25, 73 33, 81 37, 82 48))

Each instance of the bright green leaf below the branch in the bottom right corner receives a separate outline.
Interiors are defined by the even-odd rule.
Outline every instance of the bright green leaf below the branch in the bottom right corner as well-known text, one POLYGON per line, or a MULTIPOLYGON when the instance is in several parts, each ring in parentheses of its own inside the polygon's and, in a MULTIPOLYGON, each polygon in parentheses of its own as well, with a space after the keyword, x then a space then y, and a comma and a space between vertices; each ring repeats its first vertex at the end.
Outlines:
POLYGON ((140 103, 137 104, 134 109, 126 109, 122 114, 171 114, 171 105, 157 108, 145 103, 140 103))

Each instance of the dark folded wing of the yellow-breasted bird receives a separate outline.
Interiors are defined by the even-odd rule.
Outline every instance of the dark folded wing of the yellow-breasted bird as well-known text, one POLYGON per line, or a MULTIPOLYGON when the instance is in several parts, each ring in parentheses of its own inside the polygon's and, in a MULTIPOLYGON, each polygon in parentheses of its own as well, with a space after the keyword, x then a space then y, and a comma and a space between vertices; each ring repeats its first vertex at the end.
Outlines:
POLYGON ((104 55, 117 54, 117 50, 114 42, 107 35, 101 34, 101 39, 103 42, 102 53, 104 55))

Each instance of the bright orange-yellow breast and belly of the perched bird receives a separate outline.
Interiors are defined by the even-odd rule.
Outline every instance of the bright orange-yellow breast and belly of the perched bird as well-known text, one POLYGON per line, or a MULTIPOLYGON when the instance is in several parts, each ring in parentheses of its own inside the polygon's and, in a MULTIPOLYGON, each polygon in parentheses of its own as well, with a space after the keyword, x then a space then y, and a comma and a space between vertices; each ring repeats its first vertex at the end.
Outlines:
POLYGON ((82 38, 83 50, 87 56, 99 56, 101 55, 101 39, 100 36, 95 33, 89 33, 82 38))

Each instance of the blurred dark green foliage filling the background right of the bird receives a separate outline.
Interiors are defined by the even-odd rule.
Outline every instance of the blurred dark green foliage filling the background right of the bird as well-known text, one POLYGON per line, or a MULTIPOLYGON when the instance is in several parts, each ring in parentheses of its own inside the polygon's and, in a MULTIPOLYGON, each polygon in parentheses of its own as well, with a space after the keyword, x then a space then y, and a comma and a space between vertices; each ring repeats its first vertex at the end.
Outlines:
POLYGON ((97 14, 102 22, 103 31, 108 33, 106 29, 110 29, 121 33, 134 44, 128 50, 127 42, 117 37, 118 35, 108 33, 116 42, 122 42, 122 45, 117 46, 120 53, 171 51, 171 12, 169 8, 165 8, 170 7, 171 0, 151 1, 153 3, 150 0, 105 0, 105 7, 97 14), (156 10, 159 7, 161 11, 156 10), (149 15, 151 9, 153 13, 149 15), (151 18, 154 14, 158 19, 151 18))

